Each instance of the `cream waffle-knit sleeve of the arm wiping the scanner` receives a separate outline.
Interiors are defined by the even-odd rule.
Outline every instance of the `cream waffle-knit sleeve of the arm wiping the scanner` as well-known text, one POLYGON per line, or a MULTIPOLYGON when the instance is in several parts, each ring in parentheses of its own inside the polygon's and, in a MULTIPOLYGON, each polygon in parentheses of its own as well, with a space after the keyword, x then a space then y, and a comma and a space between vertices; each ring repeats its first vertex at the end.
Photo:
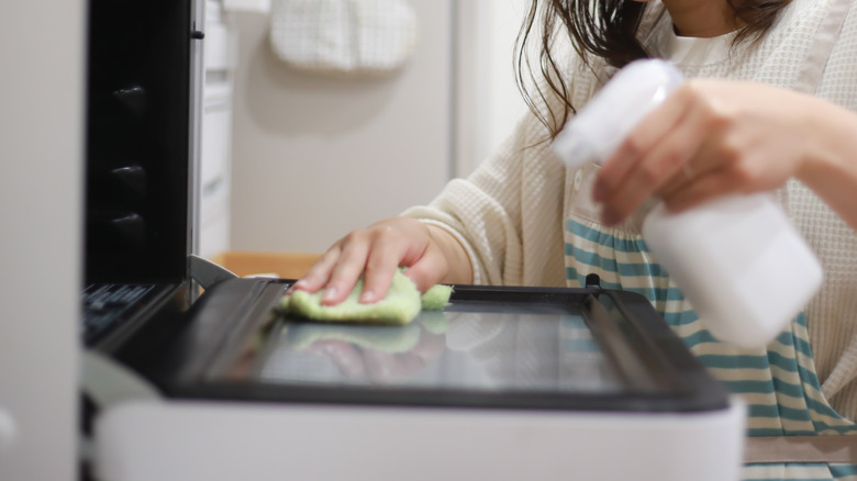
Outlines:
POLYGON ((565 168, 546 135, 525 115, 472 175, 452 180, 429 205, 403 213, 458 239, 476 284, 565 286, 565 168))

